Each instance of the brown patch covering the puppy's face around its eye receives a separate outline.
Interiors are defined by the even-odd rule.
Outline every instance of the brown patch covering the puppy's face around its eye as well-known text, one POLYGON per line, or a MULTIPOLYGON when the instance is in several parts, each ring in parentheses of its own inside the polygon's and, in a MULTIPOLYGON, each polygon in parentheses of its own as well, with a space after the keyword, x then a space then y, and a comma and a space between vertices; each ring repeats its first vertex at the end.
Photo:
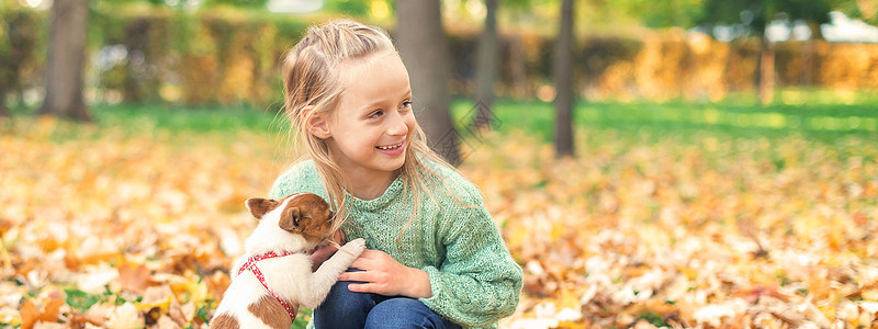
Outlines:
POLYGON ((279 226, 301 234, 308 242, 317 243, 333 234, 333 211, 317 194, 302 193, 286 203, 279 226))

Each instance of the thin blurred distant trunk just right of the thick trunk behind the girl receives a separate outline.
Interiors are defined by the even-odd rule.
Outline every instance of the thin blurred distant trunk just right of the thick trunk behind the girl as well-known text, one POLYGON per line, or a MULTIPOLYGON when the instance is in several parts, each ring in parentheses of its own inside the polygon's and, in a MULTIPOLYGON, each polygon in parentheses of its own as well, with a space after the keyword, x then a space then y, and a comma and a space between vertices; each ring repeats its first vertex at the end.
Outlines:
POLYGON ((476 128, 491 128, 494 106, 494 82, 497 80, 497 0, 485 0, 485 29, 479 42, 476 64, 475 102, 477 112, 473 118, 476 128))

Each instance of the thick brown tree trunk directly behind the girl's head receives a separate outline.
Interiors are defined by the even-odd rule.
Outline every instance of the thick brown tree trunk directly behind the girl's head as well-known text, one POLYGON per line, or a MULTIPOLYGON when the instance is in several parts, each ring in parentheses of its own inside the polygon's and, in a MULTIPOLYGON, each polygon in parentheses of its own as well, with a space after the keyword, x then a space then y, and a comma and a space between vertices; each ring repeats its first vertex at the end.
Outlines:
POLYGON ((418 123, 430 147, 460 164, 458 133, 449 112, 450 66, 439 0, 396 1, 396 39, 408 69, 418 123))

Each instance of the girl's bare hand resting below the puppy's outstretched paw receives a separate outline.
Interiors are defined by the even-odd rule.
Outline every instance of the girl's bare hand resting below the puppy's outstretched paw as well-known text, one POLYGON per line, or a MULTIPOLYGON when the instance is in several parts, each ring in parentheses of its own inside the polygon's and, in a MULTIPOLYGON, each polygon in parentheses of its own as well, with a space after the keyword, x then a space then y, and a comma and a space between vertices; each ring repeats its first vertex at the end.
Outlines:
POLYGON ((364 282, 349 284, 351 292, 412 298, 432 296, 426 271, 403 265, 384 251, 367 249, 350 266, 362 271, 341 273, 338 280, 364 282))

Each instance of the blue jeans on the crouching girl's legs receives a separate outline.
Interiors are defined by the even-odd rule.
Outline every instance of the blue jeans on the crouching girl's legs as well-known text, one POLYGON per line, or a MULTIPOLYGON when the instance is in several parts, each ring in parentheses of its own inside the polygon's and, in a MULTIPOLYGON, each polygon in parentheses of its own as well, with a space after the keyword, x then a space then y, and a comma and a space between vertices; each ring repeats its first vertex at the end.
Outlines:
POLYGON ((352 281, 333 285, 326 300, 314 309, 315 328, 460 328, 420 303, 401 296, 354 293, 352 281))

